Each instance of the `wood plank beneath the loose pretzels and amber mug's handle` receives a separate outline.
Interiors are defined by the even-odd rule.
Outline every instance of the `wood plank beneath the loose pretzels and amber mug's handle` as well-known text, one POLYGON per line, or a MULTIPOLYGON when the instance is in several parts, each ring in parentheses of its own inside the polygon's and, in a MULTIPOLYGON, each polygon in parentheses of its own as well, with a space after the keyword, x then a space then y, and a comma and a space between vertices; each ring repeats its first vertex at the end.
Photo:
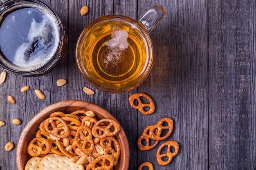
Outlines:
POLYGON ((155 153, 139 152, 139 163, 151 161, 157 170, 208 168, 207 114, 207 2, 140 0, 138 16, 160 4, 166 9, 163 20, 150 33, 155 63, 139 92, 155 101, 152 115, 139 114, 139 134, 163 117, 171 117, 174 129, 164 141, 174 140, 180 151, 167 166, 159 166, 155 153))

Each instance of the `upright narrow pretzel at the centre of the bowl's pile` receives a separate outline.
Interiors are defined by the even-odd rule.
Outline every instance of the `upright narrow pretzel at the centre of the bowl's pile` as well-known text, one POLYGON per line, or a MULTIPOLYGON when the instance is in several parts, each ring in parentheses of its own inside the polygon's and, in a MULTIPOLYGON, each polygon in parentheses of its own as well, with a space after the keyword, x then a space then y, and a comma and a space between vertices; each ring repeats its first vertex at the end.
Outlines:
POLYGON ((84 154, 89 155, 94 148, 92 131, 88 126, 81 125, 76 132, 76 145, 84 154), (86 135, 84 132, 86 131, 86 135), (81 140, 80 140, 81 139, 81 140))

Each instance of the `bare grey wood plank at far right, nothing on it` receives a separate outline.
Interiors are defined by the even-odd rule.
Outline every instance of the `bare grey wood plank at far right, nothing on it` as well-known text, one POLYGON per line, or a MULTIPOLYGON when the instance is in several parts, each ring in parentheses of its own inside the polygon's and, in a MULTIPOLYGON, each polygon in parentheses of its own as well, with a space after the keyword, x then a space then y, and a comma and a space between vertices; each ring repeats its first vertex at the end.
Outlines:
POLYGON ((209 169, 255 169, 255 1, 209 1, 209 169))

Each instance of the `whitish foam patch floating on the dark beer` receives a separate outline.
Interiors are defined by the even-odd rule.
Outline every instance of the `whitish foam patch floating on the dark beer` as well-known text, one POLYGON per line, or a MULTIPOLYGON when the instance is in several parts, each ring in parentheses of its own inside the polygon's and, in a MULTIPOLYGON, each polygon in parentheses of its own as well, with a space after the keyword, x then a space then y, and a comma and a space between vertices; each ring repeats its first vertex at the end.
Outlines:
POLYGON ((27 37, 29 42, 18 47, 13 64, 33 70, 47 63, 56 52, 59 39, 56 24, 47 15, 42 18, 40 23, 35 19, 31 22, 27 37))

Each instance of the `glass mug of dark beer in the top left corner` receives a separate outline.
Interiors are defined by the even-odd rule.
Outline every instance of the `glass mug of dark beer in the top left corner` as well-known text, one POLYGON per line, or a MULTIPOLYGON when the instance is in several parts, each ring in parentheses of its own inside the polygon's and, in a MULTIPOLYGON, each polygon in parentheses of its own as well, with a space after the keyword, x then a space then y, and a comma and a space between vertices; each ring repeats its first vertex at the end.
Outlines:
POLYGON ((67 33, 50 7, 37 0, 0 0, 3 68, 21 76, 43 75, 54 68, 66 51, 67 33))

